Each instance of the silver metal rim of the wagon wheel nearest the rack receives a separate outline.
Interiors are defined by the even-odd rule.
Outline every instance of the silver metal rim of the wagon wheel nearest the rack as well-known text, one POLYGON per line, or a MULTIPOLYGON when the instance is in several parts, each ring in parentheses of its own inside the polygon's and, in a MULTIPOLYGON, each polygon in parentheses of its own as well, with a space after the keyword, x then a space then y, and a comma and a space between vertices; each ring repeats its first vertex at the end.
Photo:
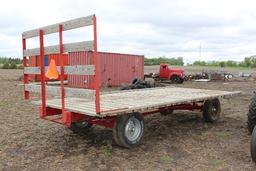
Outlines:
POLYGON ((141 134, 141 124, 136 118, 130 118, 125 126, 125 137, 129 141, 135 141, 140 137, 141 134))

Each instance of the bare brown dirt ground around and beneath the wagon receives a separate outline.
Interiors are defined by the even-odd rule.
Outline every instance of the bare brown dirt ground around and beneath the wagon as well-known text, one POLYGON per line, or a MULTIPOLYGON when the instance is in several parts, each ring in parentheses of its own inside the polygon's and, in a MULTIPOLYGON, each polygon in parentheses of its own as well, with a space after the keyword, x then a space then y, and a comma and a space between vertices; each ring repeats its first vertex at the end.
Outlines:
POLYGON ((113 145, 109 129, 73 134, 40 119, 37 107, 23 100, 21 75, 0 70, 0 170, 256 170, 245 124, 255 81, 178 85, 242 94, 221 101, 216 124, 204 123, 198 112, 148 116, 143 143, 129 150, 113 145))

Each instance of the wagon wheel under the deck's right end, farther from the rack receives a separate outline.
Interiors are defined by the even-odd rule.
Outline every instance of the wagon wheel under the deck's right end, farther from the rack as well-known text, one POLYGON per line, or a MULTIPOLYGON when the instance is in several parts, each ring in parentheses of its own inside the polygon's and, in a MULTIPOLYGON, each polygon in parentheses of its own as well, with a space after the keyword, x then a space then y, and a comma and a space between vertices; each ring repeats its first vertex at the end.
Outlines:
POLYGON ((219 99, 206 100, 203 105, 203 118, 206 122, 216 122, 220 119, 219 99))

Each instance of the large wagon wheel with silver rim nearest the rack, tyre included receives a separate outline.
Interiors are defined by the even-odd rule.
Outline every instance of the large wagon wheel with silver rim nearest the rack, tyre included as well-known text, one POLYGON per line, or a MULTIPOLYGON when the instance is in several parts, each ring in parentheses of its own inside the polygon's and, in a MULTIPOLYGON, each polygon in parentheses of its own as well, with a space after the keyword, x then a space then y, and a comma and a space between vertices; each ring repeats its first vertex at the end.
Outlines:
POLYGON ((119 146, 133 148, 140 144, 144 135, 144 119, 139 113, 117 116, 113 138, 119 146))

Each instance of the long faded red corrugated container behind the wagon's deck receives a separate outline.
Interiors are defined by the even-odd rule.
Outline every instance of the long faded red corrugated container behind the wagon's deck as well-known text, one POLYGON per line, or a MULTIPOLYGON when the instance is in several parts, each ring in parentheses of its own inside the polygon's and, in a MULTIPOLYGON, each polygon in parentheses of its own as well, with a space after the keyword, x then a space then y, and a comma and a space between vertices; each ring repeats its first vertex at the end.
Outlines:
MULTIPOLYGON (((144 56, 98 52, 100 87, 120 86, 133 78, 144 78, 144 56)), ((70 52, 70 65, 94 65, 93 52, 70 52)), ((68 75, 71 87, 93 88, 93 76, 68 75)))

